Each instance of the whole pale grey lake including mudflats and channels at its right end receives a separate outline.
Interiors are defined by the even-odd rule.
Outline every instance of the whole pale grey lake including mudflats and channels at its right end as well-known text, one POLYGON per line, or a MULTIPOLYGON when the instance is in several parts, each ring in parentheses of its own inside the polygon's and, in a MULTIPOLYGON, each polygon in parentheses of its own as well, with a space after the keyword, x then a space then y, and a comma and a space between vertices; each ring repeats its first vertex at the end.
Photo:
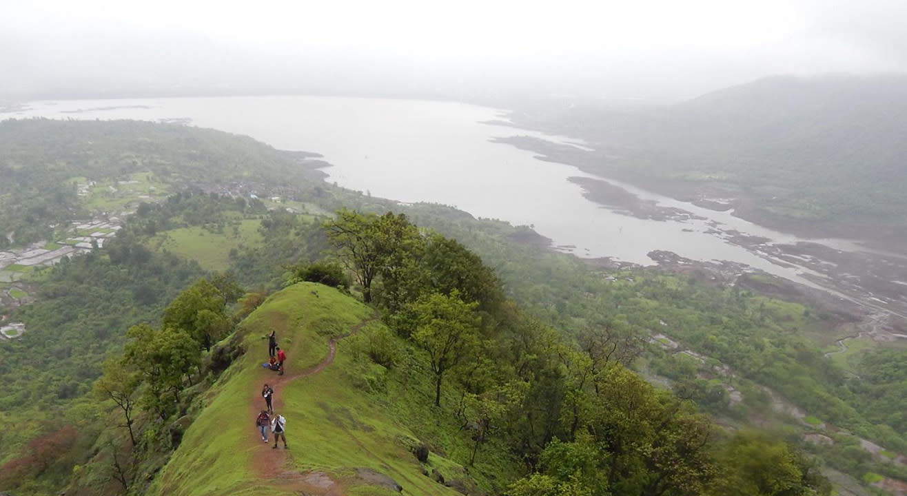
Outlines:
MULTIPOLYGON (((476 217, 532 226, 535 233, 522 233, 522 238, 528 235, 534 244, 580 258, 609 258, 608 264, 619 267, 654 265, 648 253, 671 251, 706 262, 746 264, 747 270, 760 269, 808 287, 834 291, 846 284, 848 291, 839 293, 861 300, 882 298, 887 300, 881 301, 883 306, 892 303, 889 283, 907 281, 907 269, 901 275, 888 266, 863 265, 863 247, 844 239, 817 240, 847 250, 841 261, 824 263, 826 257, 838 256, 821 249, 800 253, 798 243, 805 239, 733 217, 727 211, 728 201, 723 200, 732 197, 721 191, 697 198, 700 206, 696 206, 640 190, 633 186, 639 184, 636 178, 621 183, 584 173, 603 160, 586 143, 535 131, 511 136, 519 132, 513 131, 515 126, 502 128, 505 123, 495 121, 506 112, 501 109, 453 102, 319 97, 31 102, 30 106, 12 117, 190 122, 251 136, 276 150, 297 150, 290 156, 301 167, 317 170, 321 180, 366 196, 440 203, 476 217), (502 135, 509 137, 495 138, 502 135), (314 150, 323 157, 298 150, 314 150), (607 196, 608 203, 621 207, 603 208, 590 200, 593 195, 607 196), (778 246, 784 243, 790 247, 778 246), (835 264, 842 268, 834 268, 835 264), (872 277, 854 283, 853 277, 844 277, 845 272, 872 277), (879 293, 882 296, 867 294, 869 289, 861 291, 875 286, 885 289, 879 293)), ((651 189, 663 190, 663 186, 651 189)), ((667 192, 678 196, 678 191, 667 192)), ((898 264, 895 268, 907 267, 907 259, 898 264)), ((870 305, 879 306, 879 302, 870 305)))

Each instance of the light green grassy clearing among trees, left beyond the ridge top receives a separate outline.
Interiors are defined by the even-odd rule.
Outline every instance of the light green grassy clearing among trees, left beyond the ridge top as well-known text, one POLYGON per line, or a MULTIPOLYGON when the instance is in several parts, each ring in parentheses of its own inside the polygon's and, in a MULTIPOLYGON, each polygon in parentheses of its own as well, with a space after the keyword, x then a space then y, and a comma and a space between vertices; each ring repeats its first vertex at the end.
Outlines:
POLYGON ((229 267, 229 251, 240 244, 255 245, 263 238, 258 233, 258 219, 239 221, 228 226, 223 233, 211 233, 199 226, 164 231, 151 238, 153 249, 167 249, 183 258, 194 259, 206 270, 224 270, 229 267))

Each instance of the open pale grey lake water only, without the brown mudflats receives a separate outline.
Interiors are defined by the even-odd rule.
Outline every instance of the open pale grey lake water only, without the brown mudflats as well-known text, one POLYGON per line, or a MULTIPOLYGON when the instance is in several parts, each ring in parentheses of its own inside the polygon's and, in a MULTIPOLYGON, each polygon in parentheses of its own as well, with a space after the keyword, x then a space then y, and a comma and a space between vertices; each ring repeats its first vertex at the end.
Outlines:
MULTIPOLYGON (((267 96, 33 102, 23 112, 0 118, 188 119, 192 125, 246 134, 278 149, 321 153, 333 164, 325 169, 328 181, 352 190, 405 202, 443 203, 476 217, 532 225, 555 246, 571 247, 580 257, 650 265, 646 254, 662 249, 697 260, 741 262, 814 286, 798 276, 807 271, 804 267, 776 265, 765 254, 728 243, 727 235, 716 234, 715 227, 775 242, 799 238, 629 185, 623 186, 640 198, 707 219, 636 219, 602 207, 567 180, 594 176, 489 141, 512 135, 570 141, 483 123, 500 120, 501 114, 457 102, 267 96)), ((841 240, 824 242, 859 249, 841 240)))

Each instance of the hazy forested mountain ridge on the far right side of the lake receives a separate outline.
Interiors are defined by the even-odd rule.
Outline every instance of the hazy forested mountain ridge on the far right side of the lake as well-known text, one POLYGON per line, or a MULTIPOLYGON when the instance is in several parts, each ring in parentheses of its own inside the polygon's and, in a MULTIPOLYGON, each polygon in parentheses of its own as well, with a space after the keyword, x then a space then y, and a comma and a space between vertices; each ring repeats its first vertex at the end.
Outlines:
POLYGON ((907 233, 904 75, 772 77, 668 107, 585 103, 515 112, 514 122, 596 149, 552 158, 680 199, 717 199, 760 224, 893 242, 907 233))

